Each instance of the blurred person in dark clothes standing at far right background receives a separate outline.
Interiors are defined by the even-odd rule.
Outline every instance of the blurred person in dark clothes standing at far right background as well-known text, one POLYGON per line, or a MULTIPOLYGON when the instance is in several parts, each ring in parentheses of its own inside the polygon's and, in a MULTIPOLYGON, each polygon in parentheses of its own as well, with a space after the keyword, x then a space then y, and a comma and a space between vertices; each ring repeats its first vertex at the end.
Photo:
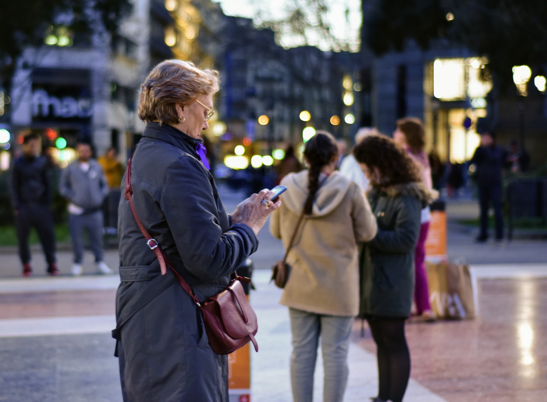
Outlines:
POLYGON ((496 241, 503 240, 502 172, 508 164, 507 151, 496 144, 494 132, 481 134, 480 146, 475 150, 470 164, 475 165, 479 187, 480 233, 476 241, 488 239, 488 210, 490 203, 496 219, 496 241))

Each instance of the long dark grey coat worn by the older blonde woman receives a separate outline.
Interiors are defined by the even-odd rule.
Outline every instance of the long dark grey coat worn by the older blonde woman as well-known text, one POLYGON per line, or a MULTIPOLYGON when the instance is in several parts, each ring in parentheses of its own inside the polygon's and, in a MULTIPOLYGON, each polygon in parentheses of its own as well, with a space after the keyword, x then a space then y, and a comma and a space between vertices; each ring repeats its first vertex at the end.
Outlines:
MULTIPOLYGON (((133 155, 131 184, 144 227, 204 300, 228 284, 258 240, 248 226, 230 225, 214 179, 197 159, 200 141, 172 126, 148 123, 133 155)), ((122 189, 124 183, 125 178, 122 189)), ((160 275, 123 196, 118 230, 118 321, 147 292, 161 292, 121 328, 124 401, 228 402, 227 357, 208 345, 201 313, 173 273, 160 275)))

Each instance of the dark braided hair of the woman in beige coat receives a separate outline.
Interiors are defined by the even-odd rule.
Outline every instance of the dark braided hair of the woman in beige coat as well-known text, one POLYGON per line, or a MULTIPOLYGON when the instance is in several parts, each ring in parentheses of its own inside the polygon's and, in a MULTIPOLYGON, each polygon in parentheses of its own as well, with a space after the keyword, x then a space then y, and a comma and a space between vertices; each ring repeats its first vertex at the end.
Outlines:
POLYGON ((310 215, 313 207, 313 200, 319 190, 319 173, 338 154, 336 140, 326 131, 317 131, 316 135, 306 142, 304 157, 308 167, 308 196, 304 203, 304 214, 310 215))

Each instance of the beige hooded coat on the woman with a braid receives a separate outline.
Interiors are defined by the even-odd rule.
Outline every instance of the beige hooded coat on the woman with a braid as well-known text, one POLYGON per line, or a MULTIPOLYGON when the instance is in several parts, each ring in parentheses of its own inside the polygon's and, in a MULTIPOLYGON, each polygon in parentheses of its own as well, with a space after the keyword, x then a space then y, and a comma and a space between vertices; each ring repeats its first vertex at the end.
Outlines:
MULTIPOLYGON (((307 197, 308 171, 291 173, 281 208, 272 213, 271 234, 288 247, 307 197)), ((339 172, 317 192, 310 217, 298 232, 287 263, 292 267, 281 304, 318 314, 357 316, 358 242, 376 234, 376 219, 363 190, 339 172)))

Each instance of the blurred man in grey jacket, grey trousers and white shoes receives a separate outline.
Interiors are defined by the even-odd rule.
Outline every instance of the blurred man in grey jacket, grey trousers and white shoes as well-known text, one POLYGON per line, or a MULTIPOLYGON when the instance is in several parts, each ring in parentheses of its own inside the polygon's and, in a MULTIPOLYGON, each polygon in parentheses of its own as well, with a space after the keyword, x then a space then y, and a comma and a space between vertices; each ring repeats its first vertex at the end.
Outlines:
POLYGON ((101 165, 91 159, 91 145, 78 143, 78 159, 63 169, 59 193, 68 199, 68 226, 72 237, 74 265, 72 275, 81 275, 84 259, 84 229, 89 234, 89 246, 95 256, 99 273, 112 273, 104 263, 102 204, 109 188, 101 165))

